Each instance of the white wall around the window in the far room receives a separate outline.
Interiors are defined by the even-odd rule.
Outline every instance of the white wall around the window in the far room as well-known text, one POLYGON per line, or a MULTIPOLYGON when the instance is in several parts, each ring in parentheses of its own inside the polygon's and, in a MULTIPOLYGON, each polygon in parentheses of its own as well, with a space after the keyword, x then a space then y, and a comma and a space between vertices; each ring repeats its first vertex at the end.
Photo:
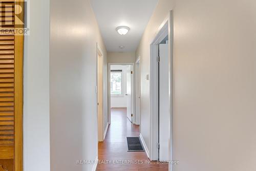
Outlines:
POLYGON ((122 84, 123 84, 123 95, 122 96, 111 96, 111 108, 126 108, 127 107, 127 96, 126 94, 126 77, 127 77, 127 66, 111 66, 111 70, 122 70, 122 84))

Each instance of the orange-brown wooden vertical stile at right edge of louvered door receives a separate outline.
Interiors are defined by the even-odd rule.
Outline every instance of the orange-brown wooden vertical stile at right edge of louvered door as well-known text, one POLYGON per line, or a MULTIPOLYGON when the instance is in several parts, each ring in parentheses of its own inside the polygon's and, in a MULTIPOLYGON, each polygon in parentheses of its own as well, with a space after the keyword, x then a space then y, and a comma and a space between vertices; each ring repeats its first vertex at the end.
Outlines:
MULTIPOLYGON (((25 21, 25 5, 23 0, 15 0, 14 4, 21 8, 14 8, 20 20, 25 21)), ((17 21, 15 20, 15 23, 17 21)), ((23 28, 24 29, 24 28, 23 28)), ((14 36, 14 171, 23 170, 23 60, 24 34, 14 36)))

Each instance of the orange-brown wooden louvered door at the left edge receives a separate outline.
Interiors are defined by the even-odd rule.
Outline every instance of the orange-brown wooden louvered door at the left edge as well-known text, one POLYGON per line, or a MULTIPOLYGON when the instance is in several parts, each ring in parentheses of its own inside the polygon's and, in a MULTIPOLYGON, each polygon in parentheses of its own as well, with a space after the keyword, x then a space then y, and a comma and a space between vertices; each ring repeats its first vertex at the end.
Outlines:
POLYGON ((0 171, 23 169, 24 36, 14 34, 20 7, 20 0, 0 0, 0 171))

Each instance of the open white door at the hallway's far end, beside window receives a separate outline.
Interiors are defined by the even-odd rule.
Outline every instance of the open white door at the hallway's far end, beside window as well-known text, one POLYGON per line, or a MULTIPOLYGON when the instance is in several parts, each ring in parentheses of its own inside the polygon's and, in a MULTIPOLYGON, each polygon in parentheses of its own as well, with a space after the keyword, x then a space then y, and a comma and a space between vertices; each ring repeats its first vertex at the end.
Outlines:
POLYGON ((127 66, 126 84, 127 118, 132 122, 132 66, 127 66))

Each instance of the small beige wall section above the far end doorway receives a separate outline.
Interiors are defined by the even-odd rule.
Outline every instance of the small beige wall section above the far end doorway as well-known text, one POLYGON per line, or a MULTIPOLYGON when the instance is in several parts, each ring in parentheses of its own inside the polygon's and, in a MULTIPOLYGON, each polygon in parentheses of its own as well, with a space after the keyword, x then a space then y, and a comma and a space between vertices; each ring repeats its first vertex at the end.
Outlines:
POLYGON ((108 52, 108 62, 135 62, 135 52, 108 52))

